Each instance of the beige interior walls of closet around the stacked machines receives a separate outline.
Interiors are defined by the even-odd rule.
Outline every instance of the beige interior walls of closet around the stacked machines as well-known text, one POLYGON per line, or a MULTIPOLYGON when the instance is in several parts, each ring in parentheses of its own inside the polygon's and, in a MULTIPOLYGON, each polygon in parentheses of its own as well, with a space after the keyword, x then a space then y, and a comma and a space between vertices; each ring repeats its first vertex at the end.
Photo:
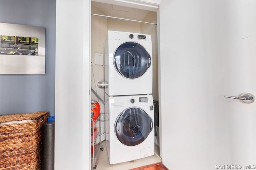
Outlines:
MULTIPOLYGON (((106 15, 99 10, 96 6, 91 4, 91 13, 106 15)), ((108 30, 123 31, 123 32, 135 32, 142 34, 150 34, 152 37, 152 60, 153 60, 153 99, 158 101, 158 51, 157 51, 157 26, 152 24, 144 24, 140 22, 132 22, 128 20, 120 20, 114 18, 106 18, 102 16, 91 16, 91 87, 96 93, 104 100, 104 89, 98 88, 97 83, 104 81, 104 65, 95 65, 95 53, 103 55, 104 60, 104 46, 108 30)), ((118 17, 118 16, 115 16, 118 17)), ((145 16, 144 22, 157 23, 156 12, 149 11, 145 16)), ((92 99, 96 99, 100 103, 102 113, 102 140, 105 140, 105 106, 94 93, 91 93, 92 99)), ((98 125, 96 125, 98 126, 98 125)))

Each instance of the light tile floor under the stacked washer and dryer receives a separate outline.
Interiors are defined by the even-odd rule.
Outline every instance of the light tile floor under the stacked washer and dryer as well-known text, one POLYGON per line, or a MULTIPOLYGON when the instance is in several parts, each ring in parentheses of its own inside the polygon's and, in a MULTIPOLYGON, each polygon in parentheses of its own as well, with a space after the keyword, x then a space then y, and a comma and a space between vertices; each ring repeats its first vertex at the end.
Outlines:
MULTIPOLYGON (((132 160, 128 162, 123 162, 120 164, 110 165, 108 161, 108 153, 106 149, 106 143, 103 141, 102 147, 104 150, 99 150, 98 157, 96 159, 96 170, 129 170, 132 168, 137 168, 141 166, 146 166, 149 164, 154 164, 158 162, 162 162, 162 158, 159 156, 159 147, 155 144, 155 154, 153 156, 149 156, 146 158, 141 158, 138 160, 132 160)), ((93 164, 92 164, 93 170, 93 164)))

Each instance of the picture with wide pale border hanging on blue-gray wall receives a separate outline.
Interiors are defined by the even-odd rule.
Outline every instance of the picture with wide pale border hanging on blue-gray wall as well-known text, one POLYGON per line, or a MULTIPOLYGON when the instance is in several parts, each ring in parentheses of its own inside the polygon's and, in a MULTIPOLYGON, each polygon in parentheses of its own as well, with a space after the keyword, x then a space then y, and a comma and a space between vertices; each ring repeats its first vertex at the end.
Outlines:
POLYGON ((0 74, 45 74, 45 28, 0 23, 0 74))

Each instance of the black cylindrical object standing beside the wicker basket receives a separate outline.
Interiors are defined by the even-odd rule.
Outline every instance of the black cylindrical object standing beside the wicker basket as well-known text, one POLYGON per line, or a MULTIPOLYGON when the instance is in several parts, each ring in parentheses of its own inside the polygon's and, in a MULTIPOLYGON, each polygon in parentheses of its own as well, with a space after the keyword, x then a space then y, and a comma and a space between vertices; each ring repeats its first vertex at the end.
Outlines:
POLYGON ((54 123, 45 122, 42 136, 42 168, 43 170, 54 170, 54 123))

